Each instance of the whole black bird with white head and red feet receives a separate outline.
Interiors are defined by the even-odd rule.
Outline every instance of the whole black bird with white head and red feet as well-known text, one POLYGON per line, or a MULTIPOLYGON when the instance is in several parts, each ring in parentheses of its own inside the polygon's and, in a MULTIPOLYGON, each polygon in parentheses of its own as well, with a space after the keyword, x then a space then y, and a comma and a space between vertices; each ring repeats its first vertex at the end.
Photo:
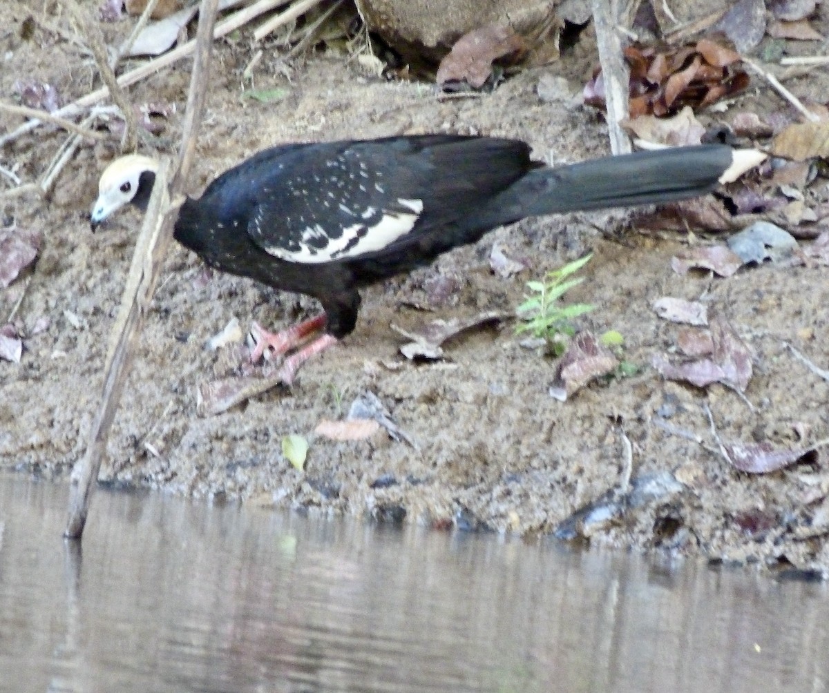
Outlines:
MULTIPOLYGON (((703 145, 550 168, 533 161, 524 142, 494 137, 287 144, 251 156, 198 200, 188 198, 174 237, 222 272, 322 303, 322 315, 279 334, 255 325, 252 360, 269 347, 284 354, 322 332, 284 362, 290 383, 311 355, 354 330, 361 286, 525 217, 704 195, 735 167, 747 168, 741 155, 703 145)), ((110 164, 93 229, 128 203, 146 210, 157 170, 147 156, 110 164)))

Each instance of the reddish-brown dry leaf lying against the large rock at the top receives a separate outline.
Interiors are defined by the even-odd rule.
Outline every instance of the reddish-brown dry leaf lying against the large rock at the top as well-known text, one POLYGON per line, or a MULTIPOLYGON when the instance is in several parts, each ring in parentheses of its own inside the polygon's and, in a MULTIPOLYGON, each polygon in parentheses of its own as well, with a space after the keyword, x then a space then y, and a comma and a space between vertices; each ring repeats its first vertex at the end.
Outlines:
POLYGON ((496 60, 513 63, 526 53, 524 39, 507 26, 482 26, 458 39, 441 60, 437 82, 441 85, 466 82, 480 89, 492 75, 496 60))

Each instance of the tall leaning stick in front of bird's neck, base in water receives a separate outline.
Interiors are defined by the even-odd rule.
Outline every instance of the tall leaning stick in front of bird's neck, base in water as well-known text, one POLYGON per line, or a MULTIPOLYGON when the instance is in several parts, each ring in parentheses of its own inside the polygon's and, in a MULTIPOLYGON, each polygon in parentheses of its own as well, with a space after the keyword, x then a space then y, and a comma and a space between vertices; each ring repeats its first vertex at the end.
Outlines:
POLYGON ((196 134, 207 93, 213 26, 216 20, 218 0, 202 0, 199 12, 199 28, 196 36, 196 60, 187 95, 187 112, 182 128, 182 148, 172 185, 167 189, 167 166, 162 163, 156 174, 153 194, 133 254, 128 284, 124 287, 118 325, 113 330, 107 354, 107 371, 104 392, 95 423, 90 431, 90 441, 84 459, 75 470, 77 484, 72 487, 69 517, 64 536, 80 539, 89 512, 92 490, 98 478, 101 460, 106 453, 109 429, 114 420, 132 365, 135 343, 143 327, 144 317, 158 283, 162 259, 167 255, 172 240, 172 224, 175 218, 169 200, 177 199, 183 182, 190 171, 196 150, 196 134))

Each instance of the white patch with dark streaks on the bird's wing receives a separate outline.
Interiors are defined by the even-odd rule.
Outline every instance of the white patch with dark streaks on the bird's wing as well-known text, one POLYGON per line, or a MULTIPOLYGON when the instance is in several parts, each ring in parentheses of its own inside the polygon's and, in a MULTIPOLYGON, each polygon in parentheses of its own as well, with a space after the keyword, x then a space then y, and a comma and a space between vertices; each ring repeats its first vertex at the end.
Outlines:
POLYGON ((264 245, 263 247, 270 255, 279 257, 280 260, 308 264, 332 262, 374 253, 409 233, 423 211, 422 200, 398 198, 397 204, 411 211, 368 208, 361 214, 351 212, 351 216, 365 221, 343 227, 342 233, 337 238, 332 238, 322 225, 314 224, 303 230, 297 242, 293 244, 294 248, 276 245, 264 245), (378 215, 380 219, 369 226, 368 224, 371 224, 378 215), (324 238, 327 238, 327 243, 322 245, 321 241, 324 238))

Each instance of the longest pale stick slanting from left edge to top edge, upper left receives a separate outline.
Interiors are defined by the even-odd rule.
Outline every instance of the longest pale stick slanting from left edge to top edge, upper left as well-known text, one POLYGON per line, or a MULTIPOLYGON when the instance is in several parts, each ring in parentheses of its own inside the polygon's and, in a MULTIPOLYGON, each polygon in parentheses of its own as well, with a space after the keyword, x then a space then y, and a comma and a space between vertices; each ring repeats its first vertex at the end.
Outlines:
MULTIPOLYGON (((269 10, 273 9, 274 7, 279 7, 280 5, 284 5, 285 0, 259 0, 250 7, 245 7, 241 9, 239 12, 235 12, 234 14, 227 17, 224 22, 221 24, 216 25, 216 31, 213 34, 213 38, 221 38, 222 36, 226 36, 231 31, 235 31, 240 26, 244 26, 251 20, 259 17, 259 15, 263 14, 264 12, 268 12, 269 10)), ((181 60, 187 55, 190 55, 193 51, 196 50, 196 39, 192 41, 187 41, 183 46, 178 46, 174 48, 172 51, 167 51, 164 55, 159 55, 158 58, 154 60, 150 60, 144 65, 141 65, 135 70, 130 70, 129 72, 125 72, 124 75, 121 75, 118 78, 118 84, 121 87, 128 87, 130 84, 135 84, 136 82, 141 81, 148 75, 154 75, 158 70, 162 70, 169 65, 181 60)), ((80 113, 84 108, 89 108, 90 106, 98 103, 101 99, 105 99, 109 94, 109 89, 106 87, 102 87, 101 89, 95 89, 94 92, 90 94, 86 94, 82 96, 80 99, 73 101, 72 103, 67 103, 63 108, 59 108, 55 113, 51 115, 54 117, 60 118, 61 116, 73 116, 80 113)), ((40 113, 38 111, 38 113, 40 113)), ((40 118, 39 116, 37 118, 40 118)), ((3 147, 8 142, 12 142, 12 140, 17 139, 21 135, 25 135, 27 132, 32 132, 38 125, 40 125, 40 120, 30 120, 27 123, 23 123, 17 130, 13 132, 9 132, 7 135, 3 135, 0 137, 0 147, 3 147)))

